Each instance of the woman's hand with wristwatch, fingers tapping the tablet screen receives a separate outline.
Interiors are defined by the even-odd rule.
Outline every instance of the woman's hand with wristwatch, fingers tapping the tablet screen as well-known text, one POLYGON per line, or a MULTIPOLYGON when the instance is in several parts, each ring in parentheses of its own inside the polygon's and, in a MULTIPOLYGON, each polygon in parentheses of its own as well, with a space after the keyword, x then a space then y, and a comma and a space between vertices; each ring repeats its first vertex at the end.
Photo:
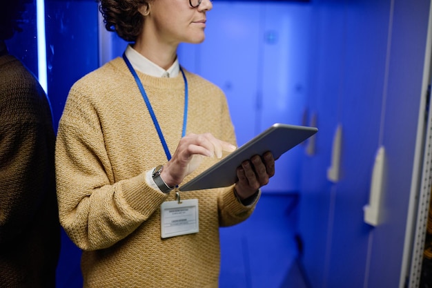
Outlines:
POLYGON ((181 138, 173 157, 161 171, 161 178, 170 186, 180 184, 195 171, 204 157, 222 158, 222 152, 233 152, 236 147, 218 140, 211 133, 188 134, 181 138))

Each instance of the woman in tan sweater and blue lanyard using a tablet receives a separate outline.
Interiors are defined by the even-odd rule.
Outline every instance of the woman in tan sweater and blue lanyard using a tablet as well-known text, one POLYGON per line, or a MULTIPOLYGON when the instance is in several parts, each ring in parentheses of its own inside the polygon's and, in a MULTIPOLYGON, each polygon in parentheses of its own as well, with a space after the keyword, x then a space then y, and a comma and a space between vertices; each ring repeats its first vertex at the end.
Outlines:
POLYGON ((106 28, 132 45, 72 86, 56 146, 60 221, 84 250, 84 287, 217 287, 219 226, 246 220, 274 175, 266 153, 233 186, 181 202, 173 190, 235 149, 222 90, 177 61, 179 43, 204 41, 212 7, 101 1, 106 28))

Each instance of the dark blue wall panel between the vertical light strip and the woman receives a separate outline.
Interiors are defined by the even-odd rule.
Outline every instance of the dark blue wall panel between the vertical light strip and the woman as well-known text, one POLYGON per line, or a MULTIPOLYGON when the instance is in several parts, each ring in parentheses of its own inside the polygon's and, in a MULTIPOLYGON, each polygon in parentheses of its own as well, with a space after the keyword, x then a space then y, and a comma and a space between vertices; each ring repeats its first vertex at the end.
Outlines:
POLYGON ((98 67, 97 3, 46 0, 48 91, 56 124, 69 89, 98 67))

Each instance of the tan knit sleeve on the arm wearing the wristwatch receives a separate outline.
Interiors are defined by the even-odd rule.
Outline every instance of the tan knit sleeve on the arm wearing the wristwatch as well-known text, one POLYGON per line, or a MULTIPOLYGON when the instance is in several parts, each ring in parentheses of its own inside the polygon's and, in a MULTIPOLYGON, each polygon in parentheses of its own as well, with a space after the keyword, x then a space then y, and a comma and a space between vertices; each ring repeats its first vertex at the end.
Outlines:
POLYGON ((59 218, 84 250, 104 249, 135 231, 167 195, 146 183, 146 171, 117 180, 92 104, 72 90, 56 142, 59 218))

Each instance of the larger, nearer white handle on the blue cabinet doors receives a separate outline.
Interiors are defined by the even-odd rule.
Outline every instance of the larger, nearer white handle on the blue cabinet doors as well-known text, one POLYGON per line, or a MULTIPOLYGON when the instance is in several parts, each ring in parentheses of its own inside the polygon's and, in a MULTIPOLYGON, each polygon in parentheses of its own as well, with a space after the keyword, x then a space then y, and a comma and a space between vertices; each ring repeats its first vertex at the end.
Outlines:
POLYGON ((380 224, 380 210, 382 193, 384 191, 384 175, 386 169, 386 153, 384 146, 378 148, 373 164, 371 193, 369 195, 369 204, 363 207, 364 222, 372 226, 380 224))

